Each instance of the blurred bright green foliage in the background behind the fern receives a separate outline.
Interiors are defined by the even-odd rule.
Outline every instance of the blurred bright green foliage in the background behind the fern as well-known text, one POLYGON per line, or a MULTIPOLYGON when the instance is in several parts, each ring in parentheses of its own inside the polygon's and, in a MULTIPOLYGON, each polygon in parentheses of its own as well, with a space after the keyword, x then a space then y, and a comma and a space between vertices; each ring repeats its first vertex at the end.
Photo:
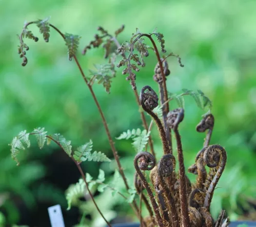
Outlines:
MULTIPOLYGON (((74 145, 92 139, 96 150, 112 157, 96 105, 75 63, 68 61, 66 47, 59 35, 51 30, 49 43, 44 43, 37 27, 31 26, 39 42, 27 41, 30 47, 26 54, 28 64, 26 67, 20 65, 16 34, 21 32, 24 20, 48 16, 63 33, 82 36, 79 51, 93 39, 99 25, 114 32, 125 24, 119 42, 129 40, 136 27, 145 33, 158 27, 164 34, 167 52, 178 53, 185 65, 180 68, 175 59, 168 60, 169 92, 180 92, 182 88, 201 89, 213 102, 216 123, 212 143, 225 147, 228 162, 214 194, 212 212, 216 216, 224 207, 231 218, 236 219, 241 214, 237 206, 241 203, 241 194, 255 196, 253 192, 256 191, 255 8, 255 0, 1 0, 0 206, 7 216, 6 221, 17 223, 22 218, 19 201, 13 199, 16 196, 28 210, 37 207, 36 201, 45 197, 52 198, 53 205, 60 203, 65 208, 64 195, 59 188, 54 184, 42 187, 40 181, 49 175, 41 160, 55 150, 41 151, 32 144, 30 152, 20 154, 20 167, 11 160, 8 143, 21 130, 45 127, 50 133, 65 135, 74 145), (54 192, 57 196, 53 196, 54 192)), ((79 54, 79 60, 87 75, 93 64, 105 63, 102 49, 88 51, 86 56, 79 54)), ((138 89, 150 85, 157 90, 152 79, 155 64, 156 57, 151 52, 146 68, 137 73, 138 89)), ((113 138, 128 129, 141 127, 133 91, 121 70, 113 80, 110 94, 101 85, 94 88, 113 138)), ((185 120, 180 133, 185 166, 188 167, 202 147, 204 135, 196 133, 195 126, 203 112, 191 97, 185 97, 185 102, 185 120)), ((171 108, 176 105, 173 102, 171 108)), ((159 157, 162 150, 156 129, 152 136, 159 157)), ((116 146, 132 184, 131 163, 135 151, 126 140, 116 141, 116 146)), ((84 167, 90 174, 98 174, 98 167, 84 167)), ((115 165, 104 164, 101 168, 106 174, 109 170, 110 175, 110 167, 114 170, 115 165)), ((115 216, 112 205, 119 214, 128 212, 129 206, 118 206, 121 203, 118 197, 115 200, 107 194, 97 197, 103 204, 102 210, 108 212, 107 216, 115 216)), ((93 213, 92 210, 88 212, 93 213)))

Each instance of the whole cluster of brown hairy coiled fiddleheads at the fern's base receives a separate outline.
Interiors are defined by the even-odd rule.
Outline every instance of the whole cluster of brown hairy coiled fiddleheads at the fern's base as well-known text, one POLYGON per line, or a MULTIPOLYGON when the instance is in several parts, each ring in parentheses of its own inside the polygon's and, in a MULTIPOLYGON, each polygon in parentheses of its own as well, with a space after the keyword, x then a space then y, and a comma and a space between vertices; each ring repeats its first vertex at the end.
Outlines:
MULTIPOLYGON (((176 158, 170 153, 164 126, 153 109, 158 106, 158 95, 152 87, 145 86, 140 92, 140 104, 156 122, 163 144, 163 156, 156 163, 150 153, 138 153, 134 160, 136 169, 135 186, 139 193, 146 189, 155 213, 150 213, 152 225, 160 227, 221 227, 228 226, 228 219, 221 211, 217 221, 210 214, 210 205, 217 182, 225 168, 227 155, 220 145, 209 145, 214 116, 206 114, 197 124, 197 132, 205 132, 203 148, 196 156, 196 162, 188 172, 197 175, 196 183, 191 184, 185 173, 183 150, 179 124, 184 119, 184 109, 177 108, 167 114, 167 126, 174 132, 177 143, 178 174, 175 172, 176 158), (207 173, 206 166, 209 167, 207 173), (147 182, 143 171, 150 172, 153 187, 147 182), (155 193, 154 193, 155 192, 155 193), (224 224, 223 224, 224 222, 224 224)), ((144 195, 144 194, 143 194, 144 195)), ((146 197, 143 200, 146 200, 146 197)), ((147 201, 148 202, 148 201, 147 201)), ((148 205, 147 205, 148 206, 148 205)))

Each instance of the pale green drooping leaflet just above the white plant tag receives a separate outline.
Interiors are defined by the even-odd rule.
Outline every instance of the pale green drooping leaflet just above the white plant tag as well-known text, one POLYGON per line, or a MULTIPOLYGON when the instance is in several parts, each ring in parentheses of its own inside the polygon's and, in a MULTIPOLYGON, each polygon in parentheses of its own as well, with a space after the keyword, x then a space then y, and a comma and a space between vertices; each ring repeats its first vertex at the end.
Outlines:
POLYGON ((66 192, 66 200, 68 203, 67 210, 70 210, 72 204, 77 204, 79 198, 84 194, 85 183, 82 179, 75 185, 70 185, 66 192))

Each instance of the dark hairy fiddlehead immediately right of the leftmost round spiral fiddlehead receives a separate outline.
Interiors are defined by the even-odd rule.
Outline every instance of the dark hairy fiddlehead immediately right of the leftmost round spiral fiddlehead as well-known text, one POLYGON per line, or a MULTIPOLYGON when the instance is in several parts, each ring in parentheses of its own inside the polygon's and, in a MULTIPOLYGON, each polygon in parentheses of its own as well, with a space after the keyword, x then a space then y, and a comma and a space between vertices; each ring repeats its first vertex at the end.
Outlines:
POLYGON ((173 170, 175 169, 176 160, 175 157, 171 154, 164 155, 158 162, 158 177, 160 185, 162 186, 165 196, 167 198, 167 206, 171 211, 170 216, 172 220, 173 227, 178 227, 178 215, 175 207, 175 200, 173 194, 170 192, 164 178, 171 176, 173 174, 173 170))

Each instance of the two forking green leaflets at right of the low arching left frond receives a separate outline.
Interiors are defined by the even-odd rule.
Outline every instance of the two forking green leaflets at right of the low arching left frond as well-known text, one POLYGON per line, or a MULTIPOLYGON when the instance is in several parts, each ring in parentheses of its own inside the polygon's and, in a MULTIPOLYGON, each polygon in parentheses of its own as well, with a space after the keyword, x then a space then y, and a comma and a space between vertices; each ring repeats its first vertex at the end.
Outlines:
POLYGON ((92 152, 93 149, 93 141, 90 140, 89 142, 85 143, 84 145, 80 146, 77 151, 74 152, 73 157, 77 162, 81 161, 110 161, 110 159, 100 151, 92 152))

